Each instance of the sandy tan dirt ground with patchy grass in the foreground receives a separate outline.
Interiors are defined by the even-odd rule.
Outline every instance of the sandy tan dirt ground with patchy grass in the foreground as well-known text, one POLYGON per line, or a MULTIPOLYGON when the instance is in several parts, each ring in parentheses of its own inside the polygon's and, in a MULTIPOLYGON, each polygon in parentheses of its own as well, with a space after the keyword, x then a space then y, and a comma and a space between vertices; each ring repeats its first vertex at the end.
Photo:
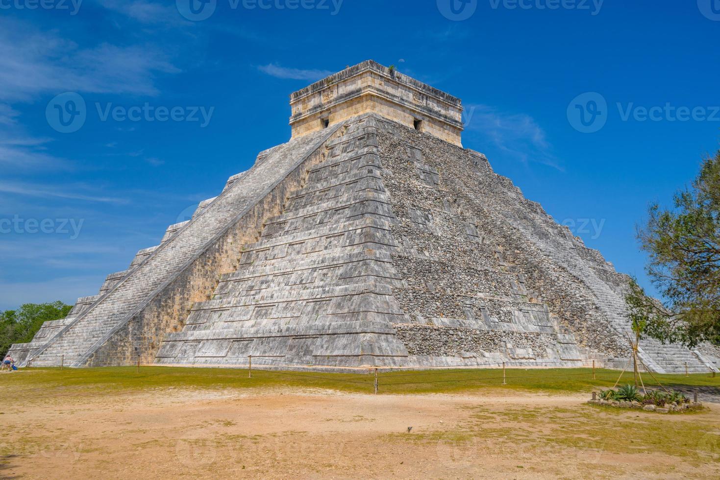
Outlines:
POLYGON ((686 422, 684 429, 714 425, 720 433, 719 405, 685 416, 610 412, 585 400, 173 388, 49 404, 17 399, 0 415, 0 476, 720 478, 720 435, 698 427, 691 436, 697 443, 677 452, 648 438, 676 422, 686 422), (582 422, 589 422, 587 432, 582 422), (593 433, 595 424, 619 427, 593 433), (566 427, 570 442, 558 440, 566 427), (632 445, 635 427, 638 448, 618 451, 613 438, 632 445))

